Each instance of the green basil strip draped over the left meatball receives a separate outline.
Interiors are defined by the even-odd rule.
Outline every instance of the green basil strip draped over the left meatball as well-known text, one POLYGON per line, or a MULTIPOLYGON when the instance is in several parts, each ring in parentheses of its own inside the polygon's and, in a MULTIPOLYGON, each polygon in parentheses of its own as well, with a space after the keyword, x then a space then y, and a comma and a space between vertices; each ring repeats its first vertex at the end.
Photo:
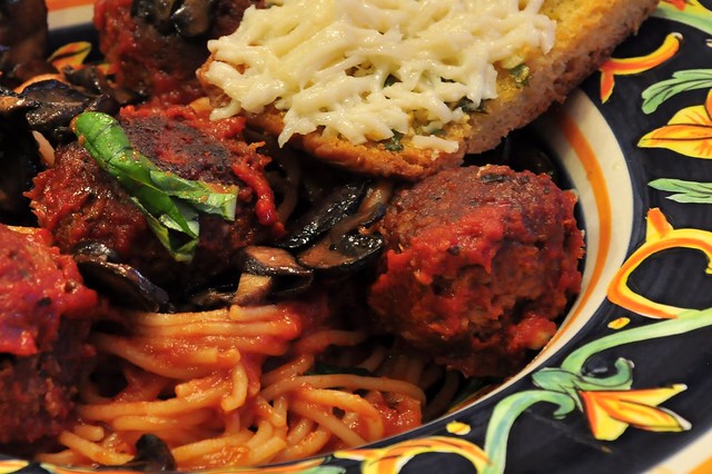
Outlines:
POLYGON ((132 148, 119 122, 107 113, 83 112, 71 128, 97 164, 123 186, 176 260, 194 257, 200 231, 198 213, 235 220, 237 186, 184 179, 159 169, 132 148))

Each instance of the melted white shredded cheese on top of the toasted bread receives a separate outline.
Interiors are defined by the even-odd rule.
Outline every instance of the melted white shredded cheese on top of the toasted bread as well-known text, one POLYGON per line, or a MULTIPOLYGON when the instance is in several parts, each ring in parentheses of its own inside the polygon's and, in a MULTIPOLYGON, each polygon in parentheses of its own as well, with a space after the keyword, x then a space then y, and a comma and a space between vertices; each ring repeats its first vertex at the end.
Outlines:
POLYGON ((497 68, 548 51, 543 0, 280 0, 251 7, 230 36, 208 42, 204 80, 228 103, 214 118, 268 105, 285 111, 279 144, 322 129, 353 144, 394 131, 445 151, 437 137, 496 97, 497 68))

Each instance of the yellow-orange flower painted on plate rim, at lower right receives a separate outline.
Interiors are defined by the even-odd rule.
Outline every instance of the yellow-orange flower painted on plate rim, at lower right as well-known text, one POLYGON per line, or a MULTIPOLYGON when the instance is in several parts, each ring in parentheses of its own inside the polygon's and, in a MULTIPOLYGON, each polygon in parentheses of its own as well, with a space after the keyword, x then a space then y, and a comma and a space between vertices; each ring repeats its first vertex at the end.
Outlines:
POLYGON ((688 388, 683 384, 639 391, 580 392, 596 440, 614 441, 629 427, 651 432, 682 432, 690 423, 657 405, 688 388))

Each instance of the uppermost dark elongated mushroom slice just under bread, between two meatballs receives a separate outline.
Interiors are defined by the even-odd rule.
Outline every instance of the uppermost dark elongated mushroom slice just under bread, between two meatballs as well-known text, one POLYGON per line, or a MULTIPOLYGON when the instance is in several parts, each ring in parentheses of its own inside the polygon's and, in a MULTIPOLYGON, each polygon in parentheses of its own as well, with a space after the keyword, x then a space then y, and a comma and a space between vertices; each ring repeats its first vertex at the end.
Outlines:
POLYGON ((333 190, 318 206, 300 216, 277 245, 294 250, 316 241, 336 223, 358 209, 367 189, 368 181, 358 179, 333 190))

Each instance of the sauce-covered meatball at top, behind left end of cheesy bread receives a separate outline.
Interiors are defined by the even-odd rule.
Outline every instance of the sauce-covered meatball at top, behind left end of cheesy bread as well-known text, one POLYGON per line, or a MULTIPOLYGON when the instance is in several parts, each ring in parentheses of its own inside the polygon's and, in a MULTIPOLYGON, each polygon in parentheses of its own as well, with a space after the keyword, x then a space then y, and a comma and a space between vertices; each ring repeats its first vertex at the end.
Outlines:
POLYGON ((202 96, 196 70, 208 58, 207 41, 231 33, 253 4, 263 1, 97 0, 93 23, 119 86, 158 102, 188 103, 202 96), (190 23, 205 24, 205 31, 180 30, 180 21, 171 18, 180 3, 202 10, 190 14, 206 18, 190 23))

